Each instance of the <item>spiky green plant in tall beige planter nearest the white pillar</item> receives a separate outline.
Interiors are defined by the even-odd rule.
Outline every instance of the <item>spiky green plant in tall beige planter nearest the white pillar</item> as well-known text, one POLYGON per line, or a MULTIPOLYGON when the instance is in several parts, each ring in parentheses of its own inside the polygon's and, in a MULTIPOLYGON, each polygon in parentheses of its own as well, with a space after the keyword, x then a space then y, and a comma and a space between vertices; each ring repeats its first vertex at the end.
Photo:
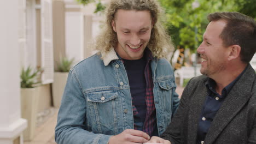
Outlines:
POLYGON ((23 132, 24 140, 32 140, 37 123, 37 107, 39 102, 40 75, 43 69, 37 67, 33 70, 31 67, 21 70, 21 117, 27 119, 28 126, 23 132))

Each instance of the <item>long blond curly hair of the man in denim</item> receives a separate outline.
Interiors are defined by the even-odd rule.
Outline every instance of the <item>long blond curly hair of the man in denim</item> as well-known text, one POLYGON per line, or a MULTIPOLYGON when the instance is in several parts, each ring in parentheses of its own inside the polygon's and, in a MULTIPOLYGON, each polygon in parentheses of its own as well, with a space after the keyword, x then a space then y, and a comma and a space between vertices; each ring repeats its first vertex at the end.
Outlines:
POLYGON ((147 47, 156 58, 166 57, 173 50, 170 36, 166 33, 160 19, 163 16, 162 10, 156 0, 112 0, 106 9, 106 24, 102 28, 102 32, 96 38, 96 49, 102 53, 106 53, 111 47, 118 44, 117 33, 112 27, 112 20, 118 9, 125 10, 149 10, 152 18, 154 18, 151 37, 147 47))

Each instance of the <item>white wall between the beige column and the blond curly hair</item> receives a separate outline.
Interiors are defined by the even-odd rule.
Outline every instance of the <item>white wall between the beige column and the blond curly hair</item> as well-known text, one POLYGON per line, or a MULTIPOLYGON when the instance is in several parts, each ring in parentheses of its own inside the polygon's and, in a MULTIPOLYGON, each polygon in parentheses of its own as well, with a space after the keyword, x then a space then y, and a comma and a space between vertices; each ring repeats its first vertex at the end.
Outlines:
POLYGON ((100 14, 94 14, 96 3, 83 6, 71 0, 65 0, 65 7, 66 56, 74 57, 77 63, 91 55, 92 50, 88 43, 100 33, 103 17, 100 14))

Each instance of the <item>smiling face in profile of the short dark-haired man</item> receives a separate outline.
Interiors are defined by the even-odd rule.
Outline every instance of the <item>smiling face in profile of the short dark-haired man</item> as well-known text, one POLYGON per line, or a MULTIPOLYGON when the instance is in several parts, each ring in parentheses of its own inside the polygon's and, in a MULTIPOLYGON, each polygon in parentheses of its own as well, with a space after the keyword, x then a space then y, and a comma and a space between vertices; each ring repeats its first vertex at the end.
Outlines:
POLYGON ((200 71, 211 78, 225 70, 228 62, 228 49, 219 37, 225 25, 223 20, 211 21, 203 34, 202 44, 197 48, 202 59, 200 71))

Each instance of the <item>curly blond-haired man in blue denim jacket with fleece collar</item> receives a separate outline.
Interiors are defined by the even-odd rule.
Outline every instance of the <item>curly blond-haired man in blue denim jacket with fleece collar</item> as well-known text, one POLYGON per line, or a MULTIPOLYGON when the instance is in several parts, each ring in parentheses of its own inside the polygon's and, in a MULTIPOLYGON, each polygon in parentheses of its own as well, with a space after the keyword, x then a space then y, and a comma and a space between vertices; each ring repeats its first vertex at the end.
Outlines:
POLYGON ((100 52, 69 71, 57 143, 144 143, 164 133, 179 105, 157 1, 112 0, 106 12, 100 52))

